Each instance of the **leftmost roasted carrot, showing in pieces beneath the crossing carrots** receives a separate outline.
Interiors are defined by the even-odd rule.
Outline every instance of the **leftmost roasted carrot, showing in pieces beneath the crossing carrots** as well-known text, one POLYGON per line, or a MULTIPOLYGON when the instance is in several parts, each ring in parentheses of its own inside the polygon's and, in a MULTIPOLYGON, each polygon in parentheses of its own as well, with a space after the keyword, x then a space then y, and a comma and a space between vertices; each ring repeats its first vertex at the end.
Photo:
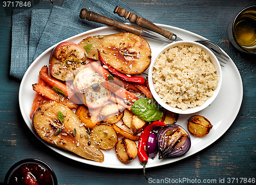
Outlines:
MULTIPOLYGON (((47 66, 42 66, 41 68, 41 71, 44 71, 44 72, 48 72, 48 67, 47 66)), ((47 83, 42 80, 42 78, 39 76, 38 77, 38 84, 41 84, 42 86, 46 86, 47 83)), ((35 97, 34 97, 34 101, 33 101, 33 104, 32 104, 32 108, 31 108, 31 112, 30 112, 30 119, 32 119, 32 116, 35 112, 35 110, 39 107, 40 104, 42 104, 42 102, 44 102, 44 96, 40 95, 39 93, 35 93, 35 97)))

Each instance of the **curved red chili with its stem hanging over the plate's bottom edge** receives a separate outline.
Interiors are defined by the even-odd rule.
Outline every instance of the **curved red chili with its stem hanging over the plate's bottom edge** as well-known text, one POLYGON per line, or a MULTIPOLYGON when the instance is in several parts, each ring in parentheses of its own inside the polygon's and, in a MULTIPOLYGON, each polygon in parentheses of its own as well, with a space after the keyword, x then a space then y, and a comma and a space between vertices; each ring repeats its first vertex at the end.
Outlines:
MULTIPOLYGON (((156 127, 158 126, 165 126, 166 124, 162 121, 154 121, 153 123, 148 124, 142 131, 139 139, 139 144, 138 144, 138 157, 140 164, 143 166, 143 173, 146 178, 146 164, 148 160, 148 156, 146 154, 145 148, 146 148, 146 143, 148 136, 150 136, 151 131, 153 131, 156 127)), ((147 179, 147 178, 146 178, 147 179)))

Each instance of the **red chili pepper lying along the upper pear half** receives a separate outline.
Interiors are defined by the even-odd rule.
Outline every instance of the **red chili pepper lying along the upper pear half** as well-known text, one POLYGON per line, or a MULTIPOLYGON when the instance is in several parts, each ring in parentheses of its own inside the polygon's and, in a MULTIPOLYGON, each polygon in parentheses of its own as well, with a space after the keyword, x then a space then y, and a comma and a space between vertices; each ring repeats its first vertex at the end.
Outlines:
POLYGON ((99 55, 99 60, 100 62, 106 66, 106 68, 114 75, 120 77, 122 80, 127 81, 127 82, 134 82, 134 83, 138 83, 138 84, 144 84, 146 82, 146 79, 142 76, 127 76, 125 74, 122 74, 120 72, 118 72, 116 69, 110 67, 108 64, 106 64, 106 62, 103 60, 103 58, 100 55, 100 51, 99 49, 97 49, 98 51, 98 55, 99 55))

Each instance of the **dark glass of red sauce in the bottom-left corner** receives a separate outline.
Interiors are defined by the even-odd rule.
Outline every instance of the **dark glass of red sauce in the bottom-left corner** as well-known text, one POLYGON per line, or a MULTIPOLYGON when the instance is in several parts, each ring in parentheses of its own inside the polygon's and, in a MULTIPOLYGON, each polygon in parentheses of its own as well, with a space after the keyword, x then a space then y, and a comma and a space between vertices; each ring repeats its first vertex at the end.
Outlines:
POLYGON ((5 184, 11 185, 57 185, 57 177, 45 162, 28 158, 15 163, 5 176, 5 184))

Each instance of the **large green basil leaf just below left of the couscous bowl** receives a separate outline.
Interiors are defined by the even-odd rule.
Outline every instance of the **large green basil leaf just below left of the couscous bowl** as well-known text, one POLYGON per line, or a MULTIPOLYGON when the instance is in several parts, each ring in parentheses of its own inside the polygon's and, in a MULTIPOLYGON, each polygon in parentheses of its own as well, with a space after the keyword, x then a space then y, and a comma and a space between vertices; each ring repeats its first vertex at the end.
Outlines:
POLYGON ((145 121, 157 121, 163 117, 162 108, 155 99, 140 98, 131 107, 133 114, 145 121))

